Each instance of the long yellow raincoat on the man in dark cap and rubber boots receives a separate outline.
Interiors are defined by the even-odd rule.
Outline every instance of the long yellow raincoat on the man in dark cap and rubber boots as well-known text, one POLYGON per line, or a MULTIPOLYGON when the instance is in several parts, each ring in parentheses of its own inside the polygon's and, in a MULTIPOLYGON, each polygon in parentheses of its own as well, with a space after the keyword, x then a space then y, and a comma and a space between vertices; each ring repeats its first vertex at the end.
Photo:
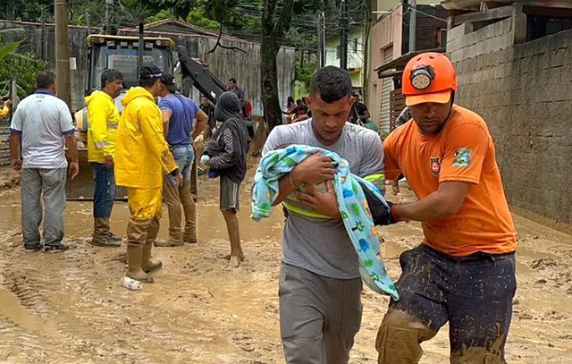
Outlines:
POLYGON ((122 105, 115 144, 115 182, 139 189, 161 187, 164 174, 177 168, 164 140, 161 110, 153 95, 141 87, 131 88, 122 105))

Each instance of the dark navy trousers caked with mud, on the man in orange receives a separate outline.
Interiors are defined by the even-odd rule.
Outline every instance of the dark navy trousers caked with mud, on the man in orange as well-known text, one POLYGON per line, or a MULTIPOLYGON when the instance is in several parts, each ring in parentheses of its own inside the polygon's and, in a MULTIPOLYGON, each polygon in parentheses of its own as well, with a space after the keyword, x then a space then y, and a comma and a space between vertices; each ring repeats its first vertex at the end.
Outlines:
POLYGON ((454 258, 425 245, 400 257, 400 301, 377 334, 380 364, 416 364, 420 343, 449 321, 451 364, 504 364, 512 299, 514 253, 454 258))

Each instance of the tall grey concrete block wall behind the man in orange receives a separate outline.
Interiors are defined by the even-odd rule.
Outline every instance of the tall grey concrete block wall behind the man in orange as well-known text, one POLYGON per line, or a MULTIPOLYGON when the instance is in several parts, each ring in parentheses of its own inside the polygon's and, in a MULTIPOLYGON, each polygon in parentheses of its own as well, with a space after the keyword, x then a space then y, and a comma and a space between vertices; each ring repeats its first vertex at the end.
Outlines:
POLYGON ((523 17, 450 30, 456 101, 488 124, 509 203, 572 224, 572 30, 522 43, 523 17))

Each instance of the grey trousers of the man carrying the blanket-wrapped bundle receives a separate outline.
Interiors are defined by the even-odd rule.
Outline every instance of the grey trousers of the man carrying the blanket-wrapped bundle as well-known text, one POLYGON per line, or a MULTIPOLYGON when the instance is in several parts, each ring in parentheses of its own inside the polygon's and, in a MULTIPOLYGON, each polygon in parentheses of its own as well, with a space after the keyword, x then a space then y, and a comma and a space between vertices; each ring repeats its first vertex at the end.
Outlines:
POLYGON ((336 279, 282 263, 280 328, 288 364, 347 364, 361 325, 360 278, 336 279))

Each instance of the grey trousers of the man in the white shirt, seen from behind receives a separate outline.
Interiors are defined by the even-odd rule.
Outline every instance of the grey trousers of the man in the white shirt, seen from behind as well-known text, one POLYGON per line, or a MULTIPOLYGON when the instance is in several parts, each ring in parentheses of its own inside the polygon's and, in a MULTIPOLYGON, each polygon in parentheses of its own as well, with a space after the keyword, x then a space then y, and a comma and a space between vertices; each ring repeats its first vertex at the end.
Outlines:
POLYGON ((44 220, 44 243, 58 245, 63 239, 67 168, 24 168, 21 171, 21 226, 26 249, 40 243, 39 225, 44 220), (41 196, 44 195, 44 208, 41 196))

